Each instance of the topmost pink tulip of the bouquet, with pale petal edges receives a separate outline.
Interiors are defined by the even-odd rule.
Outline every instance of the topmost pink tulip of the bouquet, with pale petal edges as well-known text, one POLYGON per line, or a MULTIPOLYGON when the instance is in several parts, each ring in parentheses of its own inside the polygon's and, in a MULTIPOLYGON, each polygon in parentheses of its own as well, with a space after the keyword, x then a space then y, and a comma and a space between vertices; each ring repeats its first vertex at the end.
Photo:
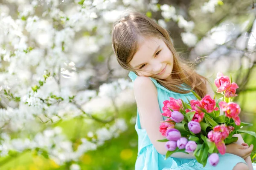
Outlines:
POLYGON ((227 76, 224 76, 221 72, 218 72, 217 78, 214 81, 215 86, 218 88, 217 92, 221 93, 230 88, 230 79, 227 76))

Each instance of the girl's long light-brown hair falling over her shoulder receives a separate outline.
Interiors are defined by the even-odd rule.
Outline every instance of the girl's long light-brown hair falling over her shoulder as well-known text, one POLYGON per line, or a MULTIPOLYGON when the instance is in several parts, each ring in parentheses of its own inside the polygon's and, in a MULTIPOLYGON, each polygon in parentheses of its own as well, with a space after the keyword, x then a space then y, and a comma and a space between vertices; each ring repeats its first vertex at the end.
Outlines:
POLYGON ((194 90, 201 98, 206 95, 207 79, 197 74, 185 63, 185 61, 181 60, 166 29, 162 28, 154 22, 154 20, 140 12, 131 12, 113 25, 113 51, 118 63, 124 69, 134 71, 137 74, 136 71, 138 71, 138 69, 133 69, 129 62, 137 52, 138 41, 141 37, 161 38, 173 55, 173 69, 169 78, 161 80, 151 76, 152 78, 155 78, 158 83, 173 92, 182 94, 188 93, 189 90, 183 88, 185 85, 185 87, 194 90))

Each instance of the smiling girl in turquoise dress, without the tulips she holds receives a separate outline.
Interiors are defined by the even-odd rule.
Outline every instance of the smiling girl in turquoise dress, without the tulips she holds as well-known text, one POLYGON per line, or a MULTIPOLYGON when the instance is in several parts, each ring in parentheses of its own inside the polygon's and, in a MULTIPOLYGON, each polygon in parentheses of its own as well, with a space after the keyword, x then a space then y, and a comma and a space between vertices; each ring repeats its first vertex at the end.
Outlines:
POLYGON ((253 146, 244 144, 241 135, 236 144, 227 145, 225 155, 213 167, 207 162, 203 167, 192 154, 174 153, 165 159, 167 149, 159 132, 163 101, 196 99, 213 95, 207 79, 198 75, 180 61, 166 29, 138 12, 132 12, 116 22, 112 35, 113 51, 117 61, 131 70, 137 102, 138 156, 135 170, 248 170, 253 169, 250 153, 253 146))

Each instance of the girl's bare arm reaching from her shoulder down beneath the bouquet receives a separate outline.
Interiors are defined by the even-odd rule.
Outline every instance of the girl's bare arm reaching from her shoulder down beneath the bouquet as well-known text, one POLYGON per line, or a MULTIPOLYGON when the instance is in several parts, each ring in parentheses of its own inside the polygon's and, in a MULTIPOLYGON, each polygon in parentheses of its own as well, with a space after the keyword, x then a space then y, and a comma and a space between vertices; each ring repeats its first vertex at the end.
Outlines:
MULTIPOLYGON (((157 141, 165 138, 159 131, 160 121, 163 121, 163 117, 157 100, 157 89, 150 78, 138 76, 135 79, 134 95, 140 115, 141 128, 146 130, 148 137, 157 152, 165 155, 167 152, 165 142, 157 141)), ((193 156, 192 153, 174 153, 171 157, 195 159, 195 156, 193 156)))

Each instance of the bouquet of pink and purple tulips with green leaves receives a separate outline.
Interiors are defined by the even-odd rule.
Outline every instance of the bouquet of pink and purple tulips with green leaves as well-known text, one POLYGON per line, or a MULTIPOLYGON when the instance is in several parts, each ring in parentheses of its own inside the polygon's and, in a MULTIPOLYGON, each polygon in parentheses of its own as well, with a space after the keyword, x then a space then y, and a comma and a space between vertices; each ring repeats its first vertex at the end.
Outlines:
POLYGON ((215 97, 212 99, 206 95, 200 98, 191 91, 197 100, 185 102, 170 98, 163 102, 162 115, 166 120, 161 122, 160 132, 166 138, 158 141, 166 142, 166 158, 176 152, 193 153, 203 166, 207 159, 212 166, 216 166, 219 161, 217 153, 225 154, 226 144, 238 140, 233 137, 234 134, 248 133, 256 137, 254 132, 241 130, 252 124, 240 121, 241 109, 233 102, 238 86, 232 83, 232 77, 218 72, 215 85, 217 93, 223 95, 216 101, 215 97), (220 114, 220 110, 224 114, 220 114))

